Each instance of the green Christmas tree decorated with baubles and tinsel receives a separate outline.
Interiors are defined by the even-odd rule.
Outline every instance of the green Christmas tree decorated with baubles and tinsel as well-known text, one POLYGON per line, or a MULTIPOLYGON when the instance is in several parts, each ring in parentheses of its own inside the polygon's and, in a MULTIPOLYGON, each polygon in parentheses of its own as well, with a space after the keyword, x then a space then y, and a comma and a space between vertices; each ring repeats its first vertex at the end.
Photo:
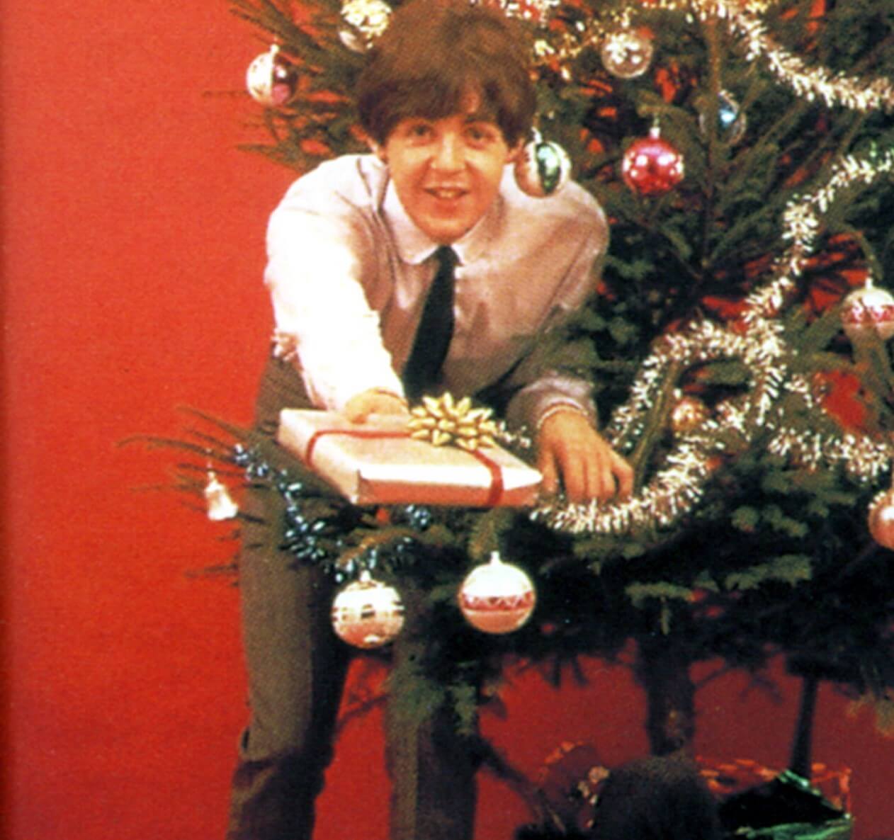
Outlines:
MULTIPOLYGON (((238 430, 196 449, 283 493, 300 561, 426 592, 428 641, 392 680, 420 703, 448 693, 460 726, 507 656, 558 673, 632 641, 653 750, 671 752, 693 735, 693 663, 782 654, 805 678, 805 774, 818 680, 894 719, 894 4, 493 2, 536 73, 520 175, 547 194, 570 162, 611 220, 598 294, 538 364, 594 382, 635 493, 382 516, 238 430), (453 601, 493 551, 533 578, 536 620, 483 637, 453 601)), ((274 45, 249 68, 265 131, 247 148, 298 172, 365 151, 350 93, 391 6, 232 5, 274 45)), ((525 430, 506 435, 524 451, 525 430)))

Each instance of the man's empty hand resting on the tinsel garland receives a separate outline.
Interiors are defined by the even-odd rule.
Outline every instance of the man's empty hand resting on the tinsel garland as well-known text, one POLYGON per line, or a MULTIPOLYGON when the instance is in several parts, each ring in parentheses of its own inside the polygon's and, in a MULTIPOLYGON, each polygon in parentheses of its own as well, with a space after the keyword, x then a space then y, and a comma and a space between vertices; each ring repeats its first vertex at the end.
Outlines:
POLYGON ((565 488, 571 502, 626 498, 633 491, 633 469, 615 452, 586 416, 569 407, 547 416, 537 434, 537 468, 546 493, 565 488))

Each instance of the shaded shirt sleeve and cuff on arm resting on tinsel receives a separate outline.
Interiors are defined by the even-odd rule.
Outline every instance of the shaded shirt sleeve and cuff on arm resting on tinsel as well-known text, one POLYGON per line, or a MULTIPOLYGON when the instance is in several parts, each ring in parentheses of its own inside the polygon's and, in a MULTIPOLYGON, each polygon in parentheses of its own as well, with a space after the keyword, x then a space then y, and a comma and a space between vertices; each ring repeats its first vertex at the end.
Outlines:
POLYGON ((598 425, 592 383, 550 365, 550 356, 555 350, 551 334, 559 335, 562 324, 585 305, 587 298, 595 293, 602 273, 608 248, 608 223, 598 205, 593 205, 592 213, 593 224, 557 290, 543 335, 536 349, 521 360, 510 377, 510 387, 516 389, 506 407, 506 419, 511 425, 536 429, 546 412, 558 404, 576 408, 594 427, 598 425))

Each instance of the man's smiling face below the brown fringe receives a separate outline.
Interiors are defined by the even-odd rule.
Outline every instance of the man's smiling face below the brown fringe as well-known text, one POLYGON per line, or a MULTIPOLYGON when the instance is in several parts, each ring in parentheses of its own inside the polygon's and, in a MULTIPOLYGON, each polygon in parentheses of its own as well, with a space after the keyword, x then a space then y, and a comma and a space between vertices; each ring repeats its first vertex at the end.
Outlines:
POLYGON ((519 151, 499 126, 475 114, 476 104, 448 117, 401 120, 376 149, 410 219, 442 245, 460 239, 487 212, 503 167, 519 151))

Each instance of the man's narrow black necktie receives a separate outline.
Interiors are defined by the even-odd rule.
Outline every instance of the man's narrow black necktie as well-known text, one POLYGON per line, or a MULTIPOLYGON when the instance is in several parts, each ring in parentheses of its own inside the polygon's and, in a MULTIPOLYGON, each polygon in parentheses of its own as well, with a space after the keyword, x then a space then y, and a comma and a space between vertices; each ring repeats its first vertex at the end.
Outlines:
POLYGON ((403 389, 407 399, 418 399, 437 384, 441 365, 453 337, 453 267, 457 256, 442 245, 434 252, 438 272, 428 291, 413 349, 403 369, 403 389))

